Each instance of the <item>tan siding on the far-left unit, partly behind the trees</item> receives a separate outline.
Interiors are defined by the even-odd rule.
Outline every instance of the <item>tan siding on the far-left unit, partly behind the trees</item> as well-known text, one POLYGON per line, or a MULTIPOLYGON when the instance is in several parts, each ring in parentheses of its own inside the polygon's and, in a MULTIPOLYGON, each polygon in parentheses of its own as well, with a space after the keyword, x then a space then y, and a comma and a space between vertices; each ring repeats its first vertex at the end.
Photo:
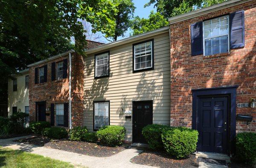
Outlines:
POLYGON ((12 107, 17 107, 17 111, 25 112, 25 106, 29 106, 29 89, 25 87, 25 76, 16 75, 17 78, 17 91, 13 91, 13 81, 8 80, 8 116, 12 115, 12 107))

